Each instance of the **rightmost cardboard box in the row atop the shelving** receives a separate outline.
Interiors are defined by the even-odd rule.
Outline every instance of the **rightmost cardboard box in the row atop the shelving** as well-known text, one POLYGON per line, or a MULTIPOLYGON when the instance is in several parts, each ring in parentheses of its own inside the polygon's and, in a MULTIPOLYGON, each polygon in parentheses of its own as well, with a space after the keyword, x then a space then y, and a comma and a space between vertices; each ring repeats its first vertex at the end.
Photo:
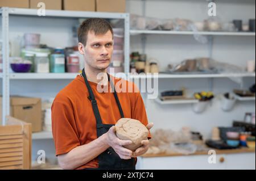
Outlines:
POLYGON ((125 0, 96 0, 96 11, 125 12, 125 0))

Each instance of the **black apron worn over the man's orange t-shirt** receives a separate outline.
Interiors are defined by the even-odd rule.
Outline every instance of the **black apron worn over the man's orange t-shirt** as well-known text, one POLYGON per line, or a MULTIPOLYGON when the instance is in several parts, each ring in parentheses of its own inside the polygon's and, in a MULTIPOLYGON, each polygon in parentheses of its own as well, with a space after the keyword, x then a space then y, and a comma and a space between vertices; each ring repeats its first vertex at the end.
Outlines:
MULTIPOLYGON (((105 134, 109 131, 109 129, 114 124, 103 124, 101 120, 100 111, 98 110, 97 106, 97 100, 95 99, 95 96, 93 94, 93 91, 89 85, 89 82, 86 78, 84 69, 82 70, 82 76, 84 77, 85 85, 88 89, 89 96, 88 99, 92 102, 92 108, 94 112, 94 116, 96 118, 96 127, 97 127, 97 137, 102 136, 102 134, 105 134)), ((121 104, 119 102, 117 92, 115 92, 114 85, 110 79, 110 76, 108 74, 108 79, 110 82, 110 86, 112 86, 112 89, 114 90, 114 97, 115 101, 117 102, 117 106, 120 112, 121 117, 123 118, 123 110, 121 107, 121 104)), ((117 153, 115 153, 114 149, 112 147, 106 149, 103 153, 98 155, 98 169, 106 170, 106 169, 125 169, 125 170, 135 170, 135 159, 121 159, 117 153)))

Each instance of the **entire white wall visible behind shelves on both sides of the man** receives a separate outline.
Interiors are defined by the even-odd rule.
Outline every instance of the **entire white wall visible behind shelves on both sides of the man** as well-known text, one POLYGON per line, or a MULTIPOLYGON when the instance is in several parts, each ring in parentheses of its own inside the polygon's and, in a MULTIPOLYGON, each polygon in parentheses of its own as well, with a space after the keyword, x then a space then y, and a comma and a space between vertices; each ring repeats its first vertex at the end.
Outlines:
MULTIPOLYGON (((142 3, 139 0, 127 0, 127 12, 142 14, 142 3)), ((146 2, 146 16, 156 18, 187 18, 192 20, 207 19, 207 2, 204 0, 186 1, 150 1, 146 2)), ((217 18, 223 22, 233 19, 255 18, 255 1, 217 1, 217 18)), ((62 18, 24 18, 16 16, 10 18, 10 40, 12 50, 19 48, 20 38, 24 32, 38 32, 42 35, 42 43, 52 47, 68 47, 72 45, 72 26, 77 19, 62 18)), ((142 52, 141 37, 131 37, 131 51, 142 52)), ((208 45, 200 44, 193 36, 176 35, 148 35, 146 44, 148 57, 157 58, 160 69, 164 70, 168 64, 176 64, 185 58, 208 56, 208 45)), ((18 56, 19 52, 13 52, 18 56)), ((255 59, 255 37, 214 37, 213 58, 232 64, 245 66, 246 60, 255 59)), ((189 94, 200 90, 209 90, 209 79, 160 79, 159 91, 180 89, 187 87, 189 94)), ((40 98, 52 97, 67 85, 70 80, 24 81, 10 82, 11 95, 37 96, 40 98)), ((255 78, 245 79, 245 87, 255 82, 255 78)), ((213 91, 216 94, 232 91, 239 88, 237 83, 228 78, 213 80, 213 91)), ((238 102, 231 112, 220 109, 220 101, 214 100, 207 111, 197 115, 192 112, 191 105, 160 106, 154 100, 145 102, 148 120, 155 123, 155 128, 180 129, 189 126, 193 131, 200 131, 205 138, 210 137, 210 130, 217 126, 231 126, 232 120, 242 120, 245 112, 255 112, 255 102, 238 102)), ((33 142, 33 159, 39 149, 46 149, 46 141, 33 142)), ((47 150, 52 150, 52 141, 47 150)), ((51 152, 51 151, 50 151, 51 152)), ((53 151, 52 151, 53 152, 53 151)), ((54 153, 47 153, 52 158, 54 153)))

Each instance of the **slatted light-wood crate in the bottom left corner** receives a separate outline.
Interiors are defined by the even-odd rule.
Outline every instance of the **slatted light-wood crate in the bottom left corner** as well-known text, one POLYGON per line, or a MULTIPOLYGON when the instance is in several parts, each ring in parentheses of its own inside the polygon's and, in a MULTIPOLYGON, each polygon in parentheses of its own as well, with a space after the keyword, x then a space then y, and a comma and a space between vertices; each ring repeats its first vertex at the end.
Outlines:
POLYGON ((31 169, 31 123, 7 116, 0 126, 0 170, 31 169))

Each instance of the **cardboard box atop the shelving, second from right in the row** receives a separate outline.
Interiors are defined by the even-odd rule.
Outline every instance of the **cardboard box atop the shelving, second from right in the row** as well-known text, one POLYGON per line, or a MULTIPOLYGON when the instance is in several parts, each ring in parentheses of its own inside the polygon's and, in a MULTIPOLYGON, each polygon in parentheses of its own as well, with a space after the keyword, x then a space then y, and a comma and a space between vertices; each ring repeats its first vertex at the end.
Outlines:
POLYGON ((95 0, 64 0, 63 10, 69 11, 95 11, 95 0))

